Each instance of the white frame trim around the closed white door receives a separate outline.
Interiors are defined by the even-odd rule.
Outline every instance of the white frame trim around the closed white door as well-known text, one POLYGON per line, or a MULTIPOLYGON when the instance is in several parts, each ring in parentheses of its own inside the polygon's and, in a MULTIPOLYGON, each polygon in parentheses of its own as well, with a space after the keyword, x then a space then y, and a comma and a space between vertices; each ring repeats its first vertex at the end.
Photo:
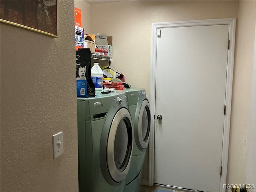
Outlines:
MULTIPOLYGON (((224 131, 222 143, 222 175, 220 176, 220 192, 225 192, 223 184, 226 184, 227 167, 228 167, 228 144, 230 132, 230 113, 231 113, 231 98, 232 98, 232 83, 234 69, 234 48, 235 48, 235 29, 236 18, 225 19, 210 19, 210 20, 191 20, 179 22, 161 22, 152 24, 152 42, 151 42, 151 75, 150 75, 150 110, 152 117, 155 117, 156 104, 156 46, 157 36, 160 35, 160 29, 173 27, 188 27, 188 26, 206 26, 206 25, 229 25, 229 50, 227 60, 227 76, 226 76, 226 115, 224 116, 224 131)), ((151 118, 150 141, 148 146, 148 186, 154 184, 154 144, 155 144, 155 118, 151 118)))

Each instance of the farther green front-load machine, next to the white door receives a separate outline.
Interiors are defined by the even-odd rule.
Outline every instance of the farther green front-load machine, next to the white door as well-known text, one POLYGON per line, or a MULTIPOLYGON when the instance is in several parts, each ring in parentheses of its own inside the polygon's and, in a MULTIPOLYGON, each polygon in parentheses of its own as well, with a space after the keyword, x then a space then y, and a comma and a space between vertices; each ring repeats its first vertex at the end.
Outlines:
POLYGON ((130 170, 126 177, 126 192, 140 192, 142 186, 142 166, 150 136, 150 107, 143 88, 126 90, 128 109, 134 127, 134 148, 130 170))

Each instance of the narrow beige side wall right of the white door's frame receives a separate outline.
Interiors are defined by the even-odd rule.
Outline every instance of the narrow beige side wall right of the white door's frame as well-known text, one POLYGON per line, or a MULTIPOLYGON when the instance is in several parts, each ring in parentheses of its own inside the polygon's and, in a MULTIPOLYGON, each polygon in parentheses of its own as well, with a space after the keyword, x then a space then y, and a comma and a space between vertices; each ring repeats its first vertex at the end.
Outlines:
POLYGON ((255 1, 239 1, 238 20, 236 22, 236 48, 227 178, 229 184, 247 182, 246 157, 250 123, 252 64, 255 51, 255 6, 255 1))

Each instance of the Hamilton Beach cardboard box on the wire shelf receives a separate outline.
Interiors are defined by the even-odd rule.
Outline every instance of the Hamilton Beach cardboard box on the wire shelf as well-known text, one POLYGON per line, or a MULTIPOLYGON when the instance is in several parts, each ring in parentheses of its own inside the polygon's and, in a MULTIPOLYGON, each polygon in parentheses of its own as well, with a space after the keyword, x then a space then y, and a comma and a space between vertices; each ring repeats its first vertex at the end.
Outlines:
POLYGON ((96 35, 95 45, 96 45, 96 48, 102 48, 102 49, 108 50, 107 56, 112 57, 113 55, 112 36, 96 35))

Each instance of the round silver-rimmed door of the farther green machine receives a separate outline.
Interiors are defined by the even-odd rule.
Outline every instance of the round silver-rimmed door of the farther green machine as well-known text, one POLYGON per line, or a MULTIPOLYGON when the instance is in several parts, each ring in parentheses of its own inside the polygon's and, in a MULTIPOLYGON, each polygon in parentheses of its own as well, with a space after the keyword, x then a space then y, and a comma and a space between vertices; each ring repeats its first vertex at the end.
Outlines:
MULTIPOLYGON (((138 106, 139 107, 139 106, 138 106)), ((143 100, 139 113, 135 117, 138 124, 134 124, 136 134, 136 143, 140 150, 145 150, 148 146, 149 133, 150 133, 150 108, 148 100, 143 100)))

